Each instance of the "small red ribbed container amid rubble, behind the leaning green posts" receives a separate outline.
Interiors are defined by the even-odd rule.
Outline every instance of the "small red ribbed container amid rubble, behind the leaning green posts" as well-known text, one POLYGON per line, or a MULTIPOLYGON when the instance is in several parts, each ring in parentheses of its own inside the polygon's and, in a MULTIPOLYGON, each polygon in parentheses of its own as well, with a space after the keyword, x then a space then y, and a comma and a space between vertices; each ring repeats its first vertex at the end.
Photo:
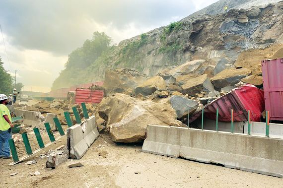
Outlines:
POLYGON ((80 103, 100 103, 103 99, 104 91, 90 89, 75 90, 75 104, 80 103))

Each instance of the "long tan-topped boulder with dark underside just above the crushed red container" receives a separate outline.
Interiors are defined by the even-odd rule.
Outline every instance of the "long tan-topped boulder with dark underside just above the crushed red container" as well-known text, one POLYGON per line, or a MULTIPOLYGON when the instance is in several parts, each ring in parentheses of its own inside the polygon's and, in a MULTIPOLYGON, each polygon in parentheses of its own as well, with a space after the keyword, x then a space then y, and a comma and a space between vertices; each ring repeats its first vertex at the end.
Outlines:
POLYGON ((239 81, 241 81, 242 78, 248 76, 251 74, 251 70, 248 68, 239 68, 239 69, 225 69, 216 74, 211 78, 212 84, 215 88, 219 89, 226 87, 226 86, 232 86, 239 81))

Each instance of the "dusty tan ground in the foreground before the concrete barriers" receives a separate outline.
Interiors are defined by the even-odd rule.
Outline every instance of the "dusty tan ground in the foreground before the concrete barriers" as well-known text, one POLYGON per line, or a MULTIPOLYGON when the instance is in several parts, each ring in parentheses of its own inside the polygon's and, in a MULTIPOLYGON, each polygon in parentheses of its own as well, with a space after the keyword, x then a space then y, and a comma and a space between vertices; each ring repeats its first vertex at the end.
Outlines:
MULTIPOLYGON (((47 143, 47 133, 42 134, 47 143)), ((33 150, 37 149, 34 134, 28 136, 33 150)), ((56 133, 56 136, 59 134, 56 133)), ((49 149, 55 149, 63 144, 66 144, 66 137, 35 154, 32 159, 37 161, 36 164, 24 165, 25 162, 22 162, 9 166, 12 159, 0 159, 0 187, 283 187, 282 178, 143 153, 141 145, 115 144, 107 133, 100 135, 82 159, 68 160, 56 169, 48 171, 44 168, 46 158, 40 159, 40 153, 47 153, 49 149), (84 166, 68 168, 68 164, 77 161, 84 166), (33 174, 35 171, 41 174, 31 176, 30 173, 33 174), (14 172, 18 174, 9 175, 14 172)), ((19 155, 25 155, 23 143, 17 142, 16 145, 20 148, 19 155)))

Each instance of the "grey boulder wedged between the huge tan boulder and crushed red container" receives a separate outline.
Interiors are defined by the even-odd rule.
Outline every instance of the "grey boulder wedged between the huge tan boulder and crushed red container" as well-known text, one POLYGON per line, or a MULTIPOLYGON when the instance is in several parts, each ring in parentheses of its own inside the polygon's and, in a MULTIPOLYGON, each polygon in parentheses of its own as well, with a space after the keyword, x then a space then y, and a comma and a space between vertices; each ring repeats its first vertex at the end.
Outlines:
POLYGON ((178 119, 188 117, 188 114, 194 113, 199 106, 198 102, 178 95, 170 98, 170 104, 176 110, 178 119))

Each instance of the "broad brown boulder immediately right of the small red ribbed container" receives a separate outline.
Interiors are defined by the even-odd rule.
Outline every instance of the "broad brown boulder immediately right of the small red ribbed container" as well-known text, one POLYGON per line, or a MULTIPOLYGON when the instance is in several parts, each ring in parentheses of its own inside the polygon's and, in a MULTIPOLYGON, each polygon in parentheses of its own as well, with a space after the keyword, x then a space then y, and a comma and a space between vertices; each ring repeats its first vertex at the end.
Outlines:
POLYGON ((129 88, 135 89, 139 84, 146 81, 146 79, 147 76, 136 69, 111 69, 105 71, 103 87, 107 91, 116 89, 116 92, 124 92, 129 88))

